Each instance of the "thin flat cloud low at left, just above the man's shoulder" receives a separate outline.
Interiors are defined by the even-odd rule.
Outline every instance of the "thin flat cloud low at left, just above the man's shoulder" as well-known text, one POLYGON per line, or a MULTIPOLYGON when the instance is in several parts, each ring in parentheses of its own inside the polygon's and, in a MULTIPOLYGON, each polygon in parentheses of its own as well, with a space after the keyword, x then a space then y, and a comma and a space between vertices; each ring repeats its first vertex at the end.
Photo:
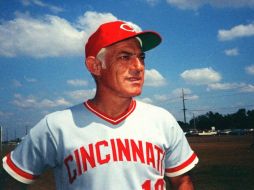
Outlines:
POLYGON ((42 99, 39 100, 35 96, 23 97, 20 94, 15 94, 12 102, 14 105, 21 108, 54 108, 58 106, 70 106, 70 102, 64 98, 58 98, 55 100, 42 99))

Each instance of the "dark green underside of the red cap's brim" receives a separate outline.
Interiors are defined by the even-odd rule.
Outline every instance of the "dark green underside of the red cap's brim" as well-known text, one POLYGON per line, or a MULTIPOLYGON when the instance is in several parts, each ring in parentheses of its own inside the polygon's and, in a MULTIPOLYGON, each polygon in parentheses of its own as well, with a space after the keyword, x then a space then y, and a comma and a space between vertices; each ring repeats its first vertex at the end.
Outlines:
POLYGON ((161 36, 153 31, 143 31, 136 35, 142 41, 142 50, 148 51, 161 43, 161 36))

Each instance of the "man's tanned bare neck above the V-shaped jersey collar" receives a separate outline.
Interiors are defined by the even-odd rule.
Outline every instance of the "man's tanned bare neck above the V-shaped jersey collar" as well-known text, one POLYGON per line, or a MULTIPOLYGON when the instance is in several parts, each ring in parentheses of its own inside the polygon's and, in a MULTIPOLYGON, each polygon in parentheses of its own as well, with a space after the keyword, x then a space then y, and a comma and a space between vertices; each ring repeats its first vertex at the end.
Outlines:
POLYGON ((121 115, 125 112, 130 104, 132 98, 121 98, 121 97, 114 97, 110 98, 105 95, 100 96, 98 93, 95 97, 91 100, 93 105, 101 112, 105 113, 107 116, 112 118, 116 118, 117 116, 121 115))

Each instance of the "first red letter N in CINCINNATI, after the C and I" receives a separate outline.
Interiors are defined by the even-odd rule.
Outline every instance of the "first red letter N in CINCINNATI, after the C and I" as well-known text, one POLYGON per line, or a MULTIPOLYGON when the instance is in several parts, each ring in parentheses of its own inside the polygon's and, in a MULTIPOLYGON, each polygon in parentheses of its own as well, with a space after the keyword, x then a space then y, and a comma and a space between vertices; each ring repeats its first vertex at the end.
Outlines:
POLYGON ((89 153, 86 151, 86 149, 84 147, 81 147, 80 154, 81 154, 81 158, 82 158, 84 172, 87 171, 87 161, 89 162, 89 164, 92 168, 94 168, 96 166, 95 159, 94 159, 93 144, 89 144, 89 153))

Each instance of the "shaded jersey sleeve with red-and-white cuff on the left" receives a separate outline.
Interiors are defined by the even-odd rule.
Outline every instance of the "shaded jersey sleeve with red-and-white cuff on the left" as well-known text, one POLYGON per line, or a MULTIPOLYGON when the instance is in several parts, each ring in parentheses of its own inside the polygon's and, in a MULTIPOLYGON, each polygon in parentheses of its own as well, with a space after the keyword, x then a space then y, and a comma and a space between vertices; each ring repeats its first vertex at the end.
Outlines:
POLYGON ((16 180, 30 184, 47 167, 55 167, 57 164, 55 147, 47 118, 44 118, 11 153, 3 158, 3 168, 16 180))

